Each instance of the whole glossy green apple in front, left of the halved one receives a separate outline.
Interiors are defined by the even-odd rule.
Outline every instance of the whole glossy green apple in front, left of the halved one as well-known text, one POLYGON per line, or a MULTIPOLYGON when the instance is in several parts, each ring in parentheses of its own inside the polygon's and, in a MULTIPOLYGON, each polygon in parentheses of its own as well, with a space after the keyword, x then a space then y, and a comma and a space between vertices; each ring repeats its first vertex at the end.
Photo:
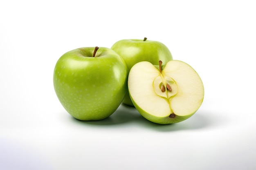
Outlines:
POLYGON ((127 93, 128 69, 112 49, 85 47, 63 54, 54 68, 56 95, 79 120, 101 120, 119 107, 127 93))

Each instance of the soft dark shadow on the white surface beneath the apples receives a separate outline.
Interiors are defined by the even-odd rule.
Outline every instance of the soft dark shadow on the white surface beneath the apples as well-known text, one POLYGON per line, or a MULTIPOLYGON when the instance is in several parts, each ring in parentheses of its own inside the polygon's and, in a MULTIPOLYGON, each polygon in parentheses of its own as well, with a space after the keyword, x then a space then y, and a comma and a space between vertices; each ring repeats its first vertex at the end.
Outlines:
POLYGON ((197 130, 211 126, 219 126, 222 119, 214 119, 214 113, 206 113, 205 111, 196 112, 192 117, 176 124, 156 124, 142 117, 136 108, 121 104, 119 108, 110 117, 99 121, 81 121, 72 117, 72 121, 80 124, 90 124, 97 126, 115 126, 120 124, 132 123, 143 128, 157 130, 162 132, 171 132, 177 130, 197 130))

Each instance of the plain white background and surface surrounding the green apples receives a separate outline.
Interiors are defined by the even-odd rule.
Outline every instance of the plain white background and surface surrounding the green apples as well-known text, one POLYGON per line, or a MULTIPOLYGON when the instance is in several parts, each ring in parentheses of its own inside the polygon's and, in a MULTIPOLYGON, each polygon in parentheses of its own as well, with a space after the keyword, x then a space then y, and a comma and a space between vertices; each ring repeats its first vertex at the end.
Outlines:
POLYGON ((253 0, 2 0, 0 169, 256 169, 255 9, 253 0), (197 113, 165 126, 123 105, 102 121, 72 118, 53 88, 58 58, 144 37, 198 72, 197 113))

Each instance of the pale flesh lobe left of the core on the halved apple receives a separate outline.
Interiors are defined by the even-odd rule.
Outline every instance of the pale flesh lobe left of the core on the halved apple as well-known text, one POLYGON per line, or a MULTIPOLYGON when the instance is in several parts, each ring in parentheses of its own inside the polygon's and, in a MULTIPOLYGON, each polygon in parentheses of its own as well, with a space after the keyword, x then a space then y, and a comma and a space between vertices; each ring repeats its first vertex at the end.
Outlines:
POLYGON ((153 64, 139 62, 129 73, 128 88, 134 102, 143 110, 158 117, 166 117, 171 114, 170 105, 166 97, 157 95, 153 89, 154 79, 159 76, 160 72, 153 64))

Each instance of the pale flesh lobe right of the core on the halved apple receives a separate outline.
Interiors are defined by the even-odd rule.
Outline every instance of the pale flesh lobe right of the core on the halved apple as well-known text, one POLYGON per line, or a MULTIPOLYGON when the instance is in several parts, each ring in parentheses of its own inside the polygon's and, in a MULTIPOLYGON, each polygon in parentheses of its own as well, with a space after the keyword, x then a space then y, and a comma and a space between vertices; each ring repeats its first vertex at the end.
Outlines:
POLYGON ((177 94, 170 99, 173 113, 185 116, 198 110, 204 97, 204 87, 198 73, 188 64, 177 60, 168 62, 162 73, 174 79, 178 87, 177 94))

